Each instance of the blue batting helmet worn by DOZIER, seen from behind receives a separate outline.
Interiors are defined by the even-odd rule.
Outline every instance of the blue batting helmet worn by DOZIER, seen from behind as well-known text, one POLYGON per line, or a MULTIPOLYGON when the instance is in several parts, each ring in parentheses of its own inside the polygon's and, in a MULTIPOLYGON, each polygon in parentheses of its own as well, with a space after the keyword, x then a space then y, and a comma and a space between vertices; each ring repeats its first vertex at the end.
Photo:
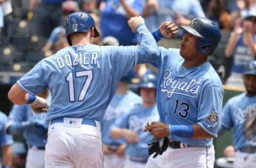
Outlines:
POLYGON ((92 16, 85 12, 71 13, 66 19, 66 37, 68 44, 71 46, 70 35, 75 32, 87 32, 90 28, 94 28, 94 37, 99 36, 98 30, 95 28, 95 23, 92 16))

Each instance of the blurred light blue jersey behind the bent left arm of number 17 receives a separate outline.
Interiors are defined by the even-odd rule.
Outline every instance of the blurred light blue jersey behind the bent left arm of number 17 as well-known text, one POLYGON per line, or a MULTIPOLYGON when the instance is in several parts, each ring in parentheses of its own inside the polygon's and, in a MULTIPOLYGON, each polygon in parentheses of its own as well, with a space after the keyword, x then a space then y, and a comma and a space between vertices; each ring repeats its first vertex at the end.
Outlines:
MULTIPOLYGON (((45 119, 46 113, 35 114, 28 104, 22 106, 14 104, 9 114, 9 120, 13 124, 17 122, 38 122, 47 125, 45 119)), ((36 127, 29 130, 25 129, 23 132, 23 137, 26 139, 26 144, 44 147, 46 144, 47 136, 39 135, 37 132, 39 131, 36 127)))

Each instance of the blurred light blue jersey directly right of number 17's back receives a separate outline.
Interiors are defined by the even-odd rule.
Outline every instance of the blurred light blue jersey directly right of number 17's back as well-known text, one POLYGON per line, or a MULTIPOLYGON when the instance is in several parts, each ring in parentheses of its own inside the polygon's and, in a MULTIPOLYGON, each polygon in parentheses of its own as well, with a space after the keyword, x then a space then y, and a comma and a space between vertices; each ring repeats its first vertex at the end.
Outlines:
POLYGON ((102 141, 107 145, 121 145, 124 144, 124 139, 113 139, 110 137, 110 128, 119 117, 126 114, 135 104, 141 104, 141 97, 132 91, 120 95, 115 94, 109 103, 106 113, 101 122, 102 125, 102 141))

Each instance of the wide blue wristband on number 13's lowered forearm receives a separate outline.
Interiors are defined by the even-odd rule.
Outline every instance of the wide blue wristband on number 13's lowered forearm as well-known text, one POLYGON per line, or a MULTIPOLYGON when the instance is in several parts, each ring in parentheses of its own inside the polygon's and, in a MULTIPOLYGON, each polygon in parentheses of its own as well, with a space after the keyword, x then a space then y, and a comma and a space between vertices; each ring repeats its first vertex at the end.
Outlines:
POLYGON ((194 129, 192 125, 169 125, 169 134, 191 139, 194 135, 194 129))

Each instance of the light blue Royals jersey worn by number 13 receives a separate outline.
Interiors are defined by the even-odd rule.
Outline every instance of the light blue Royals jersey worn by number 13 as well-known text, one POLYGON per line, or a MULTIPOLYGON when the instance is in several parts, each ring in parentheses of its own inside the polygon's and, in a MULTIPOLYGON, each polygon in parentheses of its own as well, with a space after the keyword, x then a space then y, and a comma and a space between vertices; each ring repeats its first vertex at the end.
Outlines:
MULTIPOLYGON (((221 80, 209 62, 186 69, 180 49, 161 47, 158 60, 157 107, 163 123, 174 125, 198 124, 210 135, 217 137, 219 114, 224 94, 221 80)), ((212 145, 212 138, 170 139, 193 147, 212 145)))

